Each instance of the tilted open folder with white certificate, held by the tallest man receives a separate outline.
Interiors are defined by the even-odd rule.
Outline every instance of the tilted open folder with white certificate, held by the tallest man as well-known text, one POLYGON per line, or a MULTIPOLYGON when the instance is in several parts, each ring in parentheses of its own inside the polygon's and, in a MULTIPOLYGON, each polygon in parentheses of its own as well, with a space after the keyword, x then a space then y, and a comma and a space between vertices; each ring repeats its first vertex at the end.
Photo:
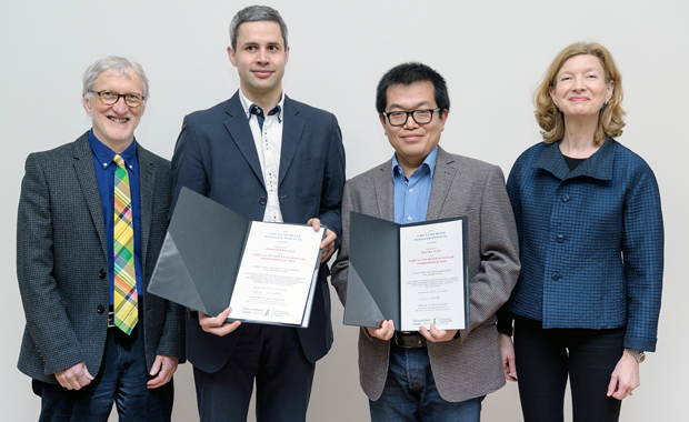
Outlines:
POLYGON ((250 221, 182 188, 148 285, 207 315, 306 328, 320 268, 319 231, 250 221))

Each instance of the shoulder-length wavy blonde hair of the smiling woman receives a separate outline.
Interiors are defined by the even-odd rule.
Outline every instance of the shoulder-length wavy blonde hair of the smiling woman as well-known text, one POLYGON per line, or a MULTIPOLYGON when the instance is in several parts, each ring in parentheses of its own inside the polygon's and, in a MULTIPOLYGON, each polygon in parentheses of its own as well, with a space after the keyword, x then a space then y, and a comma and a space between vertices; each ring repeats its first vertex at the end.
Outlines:
POLYGON ((575 42, 573 44, 566 47, 562 51, 556 56, 552 60, 543 79, 539 87, 533 92, 533 105, 536 107, 536 121, 541 127, 541 135, 546 143, 558 142, 565 135, 565 119, 562 113, 555 105, 552 98, 550 97, 550 88, 555 88, 557 84, 557 76, 565 62, 579 54, 596 56, 602 64, 606 73, 606 83, 615 81, 612 89, 612 97, 598 114, 598 129, 593 135, 593 144, 601 145, 607 137, 619 137, 622 134, 622 128, 625 127, 625 114, 622 110, 622 98, 625 91, 622 90, 622 76, 612 60, 610 51, 596 42, 575 42))

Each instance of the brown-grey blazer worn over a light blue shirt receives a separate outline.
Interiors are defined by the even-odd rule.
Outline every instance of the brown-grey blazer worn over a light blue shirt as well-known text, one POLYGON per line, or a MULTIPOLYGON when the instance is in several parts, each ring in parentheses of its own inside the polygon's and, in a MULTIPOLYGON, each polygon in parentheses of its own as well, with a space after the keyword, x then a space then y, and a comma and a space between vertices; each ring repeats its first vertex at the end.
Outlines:
MULTIPOLYGON (((349 265, 349 213, 393 221, 392 160, 347 182, 342 199, 342 245, 332 284, 344 303, 349 265)), ((496 311, 519 275, 515 218, 499 167, 438 151, 426 220, 469 217, 470 328, 457 340, 429 343, 431 371, 440 396, 460 402, 505 385, 496 311)), ((359 333, 359 376, 363 392, 378 400, 386 384, 390 341, 359 333)))

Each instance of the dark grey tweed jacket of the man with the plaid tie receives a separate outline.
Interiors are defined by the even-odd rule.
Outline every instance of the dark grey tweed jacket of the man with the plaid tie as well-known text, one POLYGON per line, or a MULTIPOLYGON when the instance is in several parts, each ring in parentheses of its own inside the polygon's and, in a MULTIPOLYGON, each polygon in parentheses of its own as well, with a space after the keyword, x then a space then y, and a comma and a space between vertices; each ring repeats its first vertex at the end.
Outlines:
MULTIPOLYGON (((137 145, 141 262, 148 287, 164 240, 172 193, 170 162, 137 145)), ((57 383, 54 373, 86 361, 96 376, 108 331, 106 225, 88 132, 27 159, 17 222, 17 277, 24 307, 18 368, 57 383)), ((146 361, 184 359, 183 309, 143 293, 146 361)))

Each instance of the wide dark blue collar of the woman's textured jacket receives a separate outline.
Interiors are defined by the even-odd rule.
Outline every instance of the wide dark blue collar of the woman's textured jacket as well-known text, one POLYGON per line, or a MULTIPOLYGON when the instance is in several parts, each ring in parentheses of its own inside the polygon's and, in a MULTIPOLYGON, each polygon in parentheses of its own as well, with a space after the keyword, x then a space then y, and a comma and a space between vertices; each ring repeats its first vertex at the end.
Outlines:
POLYGON ((586 161, 570 171, 565 157, 560 151, 559 142, 553 142, 546 147, 541 157, 531 165, 535 169, 549 171, 560 180, 571 179, 579 175, 587 175, 593 179, 611 180, 612 164, 615 162, 615 143, 617 141, 610 137, 586 161))

